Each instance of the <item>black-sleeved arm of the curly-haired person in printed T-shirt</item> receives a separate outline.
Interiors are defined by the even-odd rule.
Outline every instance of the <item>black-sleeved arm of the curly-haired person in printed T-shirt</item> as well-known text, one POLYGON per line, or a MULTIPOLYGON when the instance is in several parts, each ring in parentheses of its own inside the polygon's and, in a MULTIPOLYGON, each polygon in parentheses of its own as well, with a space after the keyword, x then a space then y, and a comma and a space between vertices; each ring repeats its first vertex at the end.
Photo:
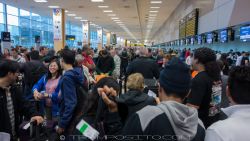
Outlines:
POLYGON ((194 78, 192 80, 191 92, 187 97, 187 105, 199 109, 206 90, 206 82, 194 78))

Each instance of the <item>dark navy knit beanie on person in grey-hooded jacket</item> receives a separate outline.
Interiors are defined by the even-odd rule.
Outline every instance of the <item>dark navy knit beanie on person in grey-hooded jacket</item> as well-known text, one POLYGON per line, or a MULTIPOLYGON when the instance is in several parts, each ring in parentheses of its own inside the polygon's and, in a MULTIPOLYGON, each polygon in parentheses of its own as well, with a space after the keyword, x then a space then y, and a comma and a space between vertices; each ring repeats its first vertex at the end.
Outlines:
POLYGON ((188 93, 191 84, 189 67, 180 59, 174 57, 160 73, 160 86, 172 93, 188 93))

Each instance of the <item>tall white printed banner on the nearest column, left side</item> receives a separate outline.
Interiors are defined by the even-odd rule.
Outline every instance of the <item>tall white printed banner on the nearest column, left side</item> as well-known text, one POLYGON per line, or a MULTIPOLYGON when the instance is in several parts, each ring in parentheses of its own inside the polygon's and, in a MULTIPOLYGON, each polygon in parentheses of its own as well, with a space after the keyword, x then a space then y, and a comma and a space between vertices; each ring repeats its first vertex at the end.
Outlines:
POLYGON ((53 9, 54 40, 62 40, 62 9, 53 9))

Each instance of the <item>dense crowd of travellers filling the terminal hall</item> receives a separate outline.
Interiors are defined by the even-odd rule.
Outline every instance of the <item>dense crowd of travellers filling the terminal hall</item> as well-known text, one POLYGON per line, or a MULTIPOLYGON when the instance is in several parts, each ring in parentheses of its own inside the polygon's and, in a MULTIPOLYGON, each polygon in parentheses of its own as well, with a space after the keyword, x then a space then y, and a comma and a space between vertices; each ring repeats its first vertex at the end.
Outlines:
POLYGON ((0 56, 0 133, 22 140, 36 121, 49 140, 247 141, 249 91, 248 52, 17 46, 0 56))

